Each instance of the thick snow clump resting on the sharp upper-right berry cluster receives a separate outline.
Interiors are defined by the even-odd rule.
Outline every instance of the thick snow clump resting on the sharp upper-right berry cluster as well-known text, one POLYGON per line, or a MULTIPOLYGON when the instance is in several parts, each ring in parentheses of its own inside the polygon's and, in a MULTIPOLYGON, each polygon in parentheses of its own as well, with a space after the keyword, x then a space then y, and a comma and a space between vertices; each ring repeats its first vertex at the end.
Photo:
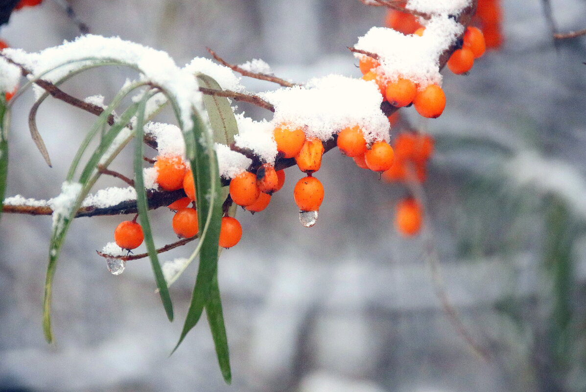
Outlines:
MULTIPOLYGON (((413 80, 424 88, 440 84, 440 56, 464 32, 464 26, 447 14, 435 15, 427 21, 423 36, 403 35, 393 29, 373 27, 360 37, 356 49, 379 55, 376 72, 385 81, 398 77, 413 80)), ((356 57, 363 54, 356 54, 356 57)))

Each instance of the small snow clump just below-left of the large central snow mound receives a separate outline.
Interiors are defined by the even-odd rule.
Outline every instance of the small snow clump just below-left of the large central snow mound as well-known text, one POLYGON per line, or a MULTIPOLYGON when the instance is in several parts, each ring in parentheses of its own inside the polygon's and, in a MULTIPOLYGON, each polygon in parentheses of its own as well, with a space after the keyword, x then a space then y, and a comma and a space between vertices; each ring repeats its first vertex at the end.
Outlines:
POLYGON ((238 134, 234 137, 236 146, 251 149, 261 161, 274 165, 277 158, 277 143, 272 137, 274 125, 271 122, 253 121, 244 114, 236 115, 238 134))

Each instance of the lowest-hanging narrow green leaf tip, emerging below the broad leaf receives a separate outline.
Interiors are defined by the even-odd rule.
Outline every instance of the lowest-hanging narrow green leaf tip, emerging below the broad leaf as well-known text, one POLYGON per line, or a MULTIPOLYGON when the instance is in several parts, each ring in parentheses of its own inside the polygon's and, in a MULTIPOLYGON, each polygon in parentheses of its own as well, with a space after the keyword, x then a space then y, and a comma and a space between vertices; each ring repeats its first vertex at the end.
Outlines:
POLYGON ((214 346, 220 370, 226 383, 232 382, 232 372, 230 370, 230 352, 228 349, 228 338, 226 336, 226 326, 224 325, 224 315, 222 312, 222 299, 220 299, 220 288, 218 285, 217 271, 212 279, 210 287, 210 298, 206 304, 207 322, 210 324, 214 346))

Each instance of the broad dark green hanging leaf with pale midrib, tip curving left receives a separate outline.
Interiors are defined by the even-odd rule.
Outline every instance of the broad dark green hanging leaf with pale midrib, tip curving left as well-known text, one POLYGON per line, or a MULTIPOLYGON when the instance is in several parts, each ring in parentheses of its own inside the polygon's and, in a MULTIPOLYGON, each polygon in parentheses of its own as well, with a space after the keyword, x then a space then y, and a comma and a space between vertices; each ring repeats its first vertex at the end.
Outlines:
POLYGON ((185 324, 173 352, 185 339, 189 330, 197 324, 209 299, 212 280, 217 271, 218 240, 222 223, 223 200, 213 139, 209 129, 197 115, 193 116, 193 138, 198 141, 196 148, 192 151, 195 158, 191 161, 191 167, 197 193, 197 218, 200 233, 199 269, 185 324))

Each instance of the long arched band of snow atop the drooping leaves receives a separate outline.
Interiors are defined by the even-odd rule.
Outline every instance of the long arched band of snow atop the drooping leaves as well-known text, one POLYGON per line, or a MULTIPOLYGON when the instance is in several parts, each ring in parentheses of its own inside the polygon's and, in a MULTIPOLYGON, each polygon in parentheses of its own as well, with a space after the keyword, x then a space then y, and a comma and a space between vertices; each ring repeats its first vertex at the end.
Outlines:
POLYGON ((193 126, 192 108, 195 107, 200 113, 205 113, 202 93, 199 91, 196 79, 188 69, 176 66, 166 52, 118 37, 84 35, 38 53, 26 53, 22 49, 13 48, 5 49, 4 53, 32 71, 29 79, 42 77, 49 81, 59 80, 82 66, 102 60, 128 63, 141 72, 142 80, 158 84, 175 97, 185 129, 193 126))

